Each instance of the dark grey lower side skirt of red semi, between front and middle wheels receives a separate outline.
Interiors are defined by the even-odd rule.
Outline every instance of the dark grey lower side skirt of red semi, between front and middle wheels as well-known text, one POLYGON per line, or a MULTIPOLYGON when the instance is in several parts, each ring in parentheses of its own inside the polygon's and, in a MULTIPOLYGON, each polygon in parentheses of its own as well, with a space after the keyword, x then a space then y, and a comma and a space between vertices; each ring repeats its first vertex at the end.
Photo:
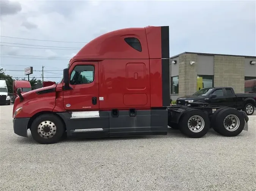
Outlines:
POLYGON ((68 137, 74 138, 100 138, 100 137, 126 137, 143 135, 166 135, 168 127, 168 111, 166 109, 154 110, 126 110, 100 111, 100 117, 70 119, 71 112, 57 113, 66 123, 68 137), (132 112, 131 115, 130 113, 132 112), (96 129, 101 131, 75 132, 75 129, 96 129))

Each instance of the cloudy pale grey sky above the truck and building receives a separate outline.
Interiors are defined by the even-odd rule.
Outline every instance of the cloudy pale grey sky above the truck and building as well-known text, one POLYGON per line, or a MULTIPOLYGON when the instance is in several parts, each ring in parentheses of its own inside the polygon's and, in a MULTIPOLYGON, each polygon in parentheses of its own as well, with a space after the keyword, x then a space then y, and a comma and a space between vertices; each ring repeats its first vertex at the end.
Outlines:
POLYGON ((149 25, 170 26, 170 56, 256 55, 255 1, 1 0, 0 8, 0 65, 13 77, 24 72, 9 70, 33 66, 38 71, 32 76, 39 78, 43 65, 44 80, 58 82, 86 42, 115 29, 149 25))

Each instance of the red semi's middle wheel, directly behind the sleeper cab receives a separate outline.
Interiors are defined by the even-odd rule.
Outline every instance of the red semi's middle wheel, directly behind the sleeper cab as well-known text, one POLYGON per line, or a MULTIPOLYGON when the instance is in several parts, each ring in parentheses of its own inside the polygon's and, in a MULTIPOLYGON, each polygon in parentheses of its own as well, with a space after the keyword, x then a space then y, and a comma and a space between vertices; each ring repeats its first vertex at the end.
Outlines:
MULTIPOLYGON (((191 123, 193 125, 193 123, 191 123)), ((195 124, 195 123, 194 123, 195 124)), ((191 125, 190 125, 191 126, 191 125)), ((181 119, 179 120, 179 129, 182 133, 184 133, 185 135, 187 135, 188 137, 192 137, 192 138, 200 138, 203 137, 210 128, 210 120, 209 117, 206 113, 204 113, 203 111, 199 110, 199 109, 189 109, 187 111, 185 111, 182 116, 181 119), (190 118, 192 118, 193 116, 195 116, 192 120, 190 120, 190 118), (203 121, 200 120, 199 116, 203 121), (190 130, 190 127, 188 126, 188 122, 196 122, 198 125, 198 129, 196 129, 196 126, 192 126, 191 129, 193 127, 194 130, 190 130), (201 129, 201 131, 199 131, 200 127, 202 127, 201 125, 204 123, 203 128, 201 129), (196 131, 199 132, 196 132, 196 131)))

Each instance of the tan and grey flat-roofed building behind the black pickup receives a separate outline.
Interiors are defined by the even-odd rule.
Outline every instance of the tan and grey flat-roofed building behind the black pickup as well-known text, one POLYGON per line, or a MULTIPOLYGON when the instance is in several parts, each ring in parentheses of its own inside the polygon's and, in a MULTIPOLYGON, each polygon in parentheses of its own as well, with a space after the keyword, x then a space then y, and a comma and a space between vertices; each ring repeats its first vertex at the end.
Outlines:
POLYGON ((256 56, 183 52, 170 58, 171 99, 201 88, 231 86, 245 92, 245 80, 256 79, 256 56))

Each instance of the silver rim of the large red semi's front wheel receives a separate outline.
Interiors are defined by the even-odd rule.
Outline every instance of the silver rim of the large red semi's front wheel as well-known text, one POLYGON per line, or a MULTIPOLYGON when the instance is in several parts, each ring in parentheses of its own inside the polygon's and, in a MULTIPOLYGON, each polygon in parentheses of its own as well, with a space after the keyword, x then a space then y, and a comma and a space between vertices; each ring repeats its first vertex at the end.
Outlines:
POLYGON ((37 127, 37 132, 40 137, 50 139, 56 134, 56 125, 51 121, 43 121, 37 127))

